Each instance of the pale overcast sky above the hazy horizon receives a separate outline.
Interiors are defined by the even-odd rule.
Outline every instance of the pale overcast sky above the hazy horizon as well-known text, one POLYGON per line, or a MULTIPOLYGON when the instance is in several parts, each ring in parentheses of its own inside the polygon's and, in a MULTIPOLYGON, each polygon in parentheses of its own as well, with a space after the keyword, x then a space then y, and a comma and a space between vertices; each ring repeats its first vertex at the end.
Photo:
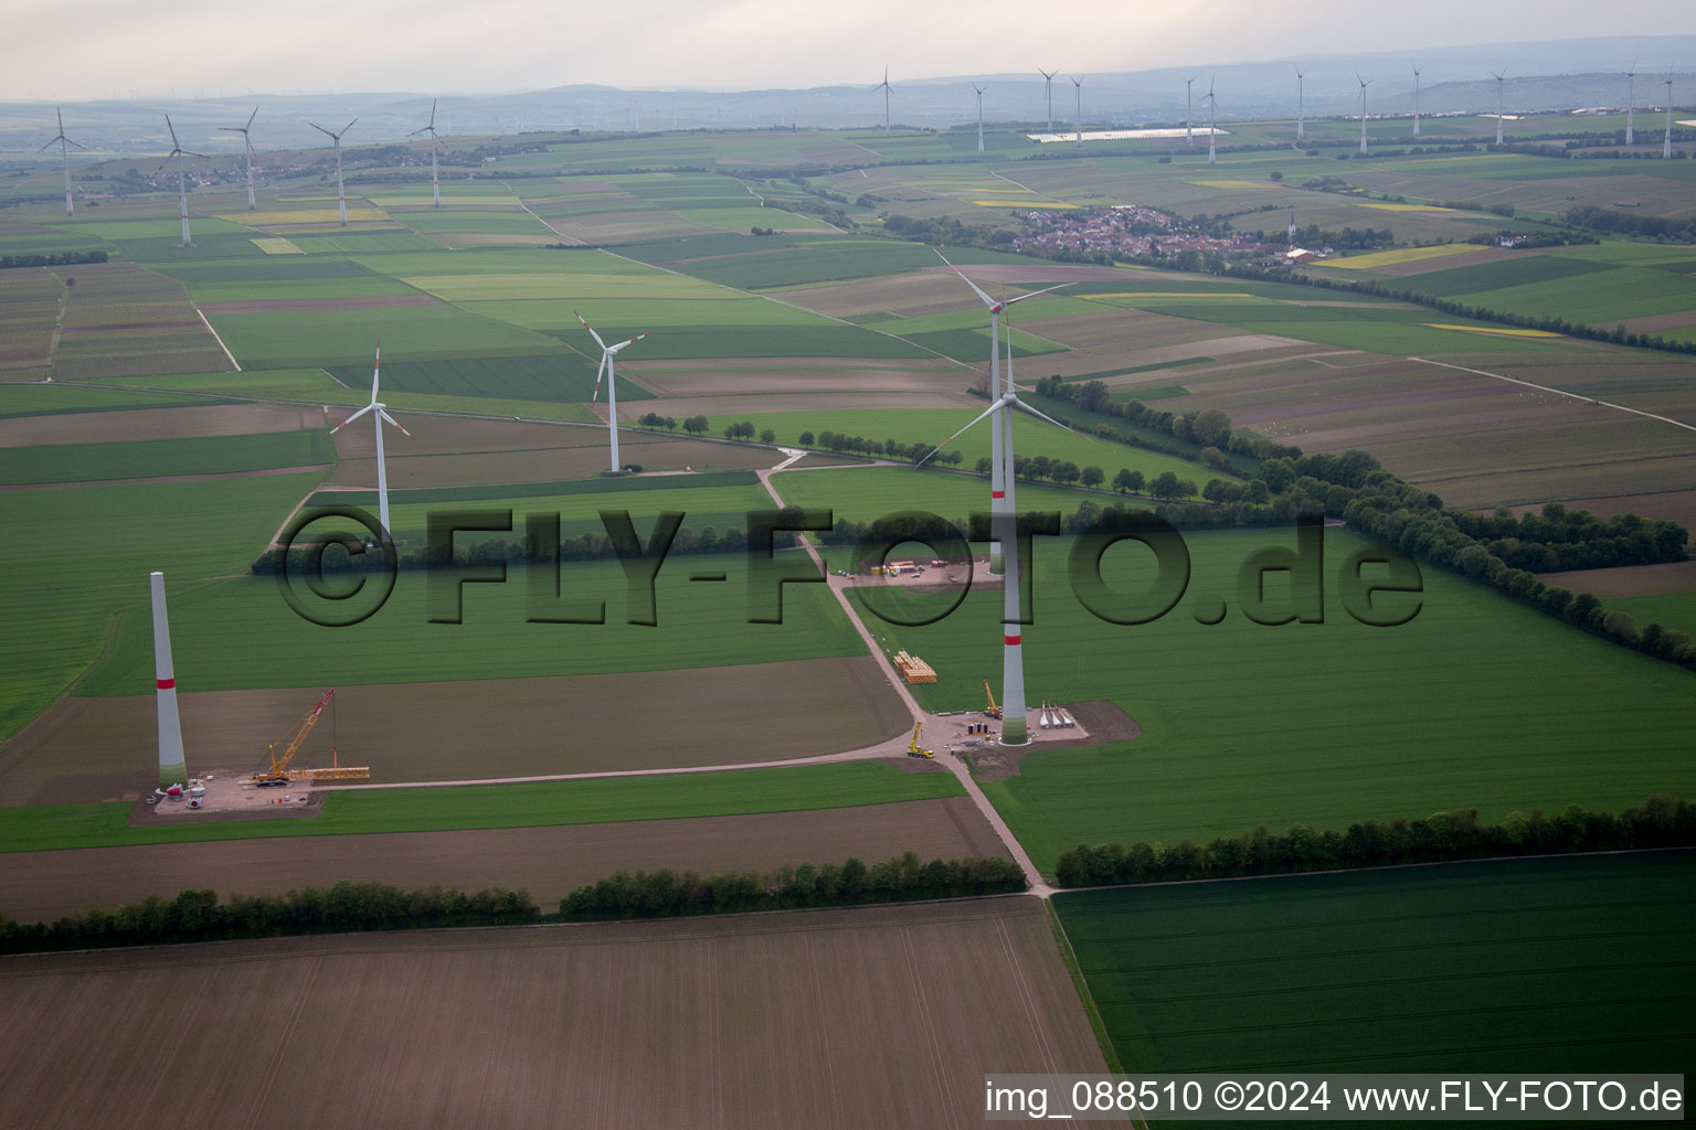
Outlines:
MULTIPOLYGON (((1696 0, 0 0, 0 98, 760 90, 1696 32, 1696 0)), ((1696 59, 1691 59, 1696 63, 1696 59)))

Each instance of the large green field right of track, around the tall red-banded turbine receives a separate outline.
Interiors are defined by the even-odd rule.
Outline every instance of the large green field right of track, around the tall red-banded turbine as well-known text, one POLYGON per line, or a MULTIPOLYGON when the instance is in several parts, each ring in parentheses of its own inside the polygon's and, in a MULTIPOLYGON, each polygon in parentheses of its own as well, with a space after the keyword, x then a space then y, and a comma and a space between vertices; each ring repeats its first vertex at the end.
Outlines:
MULTIPOLYGON (((1430 568, 1413 620, 1357 623, 1338 603, 1335 571, 1362 542, 1342 530, 1325 544, 1325 623, 1258 625, 1243 615, 1238 569, 1292 537, 1184 540, 1187 595, 1153 623, 1119 627, 1072 595, 1070 542, 1035 539, 1035 622, 1023 630, 1029 701, 1107 700, 1143 730, 1133 742, 1050 752, 1038 737, 1018 776, 984 783, 1043 871, 1077 844, 1206 842, 1260 823, 1342 830, 1470 806, 1487 820, 1574 803, 1615 810, 1696 788, 1681 720, 1696 710, 1696 676, 1686 671, 1430 568), (1219 600, 1226 618, 1197 623, 1219 600), (1226 667, 1221 654, 1231 656, 1226 667), (1431 701, 1443 710, 1430 712, 1431 701), (1611 751, 1606 762, 1598 749, 1611 751)), ((1109 551, 1104 578, 1126 600, 1143 595, 1136 607, 1146 608, 1148 556, 1133 549, 1109 551)), ((1269 581, 1269 607, 1286 607, 1286 591, 1269 581)), ((873 623, 890 651, 936 669, 936 683, 912 688, 919 703, 958 710, 977 706, 982 679, 1001 669, 999 618, 999 593, 972 593, 928 627, 873 623)))

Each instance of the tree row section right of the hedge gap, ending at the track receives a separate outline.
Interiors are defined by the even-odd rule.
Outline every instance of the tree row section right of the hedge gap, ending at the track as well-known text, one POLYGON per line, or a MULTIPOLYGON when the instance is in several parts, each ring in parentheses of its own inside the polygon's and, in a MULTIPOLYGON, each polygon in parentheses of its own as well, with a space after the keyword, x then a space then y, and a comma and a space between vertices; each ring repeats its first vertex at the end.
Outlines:
POLYGON ((967 898, 1026 889, 1019 864, 1006 857, 933 859, 914 852, 867 867, 858 859, 843 864, 801 864, 780 871, 733 871, 700 876, 660 871, 619 871, 560 900, 560 918, 672 918, 726 915, 806 906, 856 906, 921 898, 967 898))

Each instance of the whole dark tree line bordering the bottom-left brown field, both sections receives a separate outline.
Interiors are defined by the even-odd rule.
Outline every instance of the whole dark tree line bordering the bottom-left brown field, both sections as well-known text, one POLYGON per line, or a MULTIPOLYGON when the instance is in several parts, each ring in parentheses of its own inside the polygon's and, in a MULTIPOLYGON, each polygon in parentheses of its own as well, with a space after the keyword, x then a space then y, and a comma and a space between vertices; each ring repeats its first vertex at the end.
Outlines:
POLYGON ((88 910, 56 922, 12 922, 0 915, 0 952, 22 954, 114 945, 222 942, 297 933, 510 927, 541 922, 724 915, 804 906, 856 906, 923 898, 967 898, 1026 889, 1024 872, 1006 857, 919 861, 906 852, 870 867, 801 864, 778 871, 700 876, 660 869, 619 871, 560 900, 543 913, 529 891, 490 888, 466 895, 453 888, 404 891, 385 883, 343 879, 287 895, 232 895, 185 889, 173 900, 153 895, 115 910, 88 910))

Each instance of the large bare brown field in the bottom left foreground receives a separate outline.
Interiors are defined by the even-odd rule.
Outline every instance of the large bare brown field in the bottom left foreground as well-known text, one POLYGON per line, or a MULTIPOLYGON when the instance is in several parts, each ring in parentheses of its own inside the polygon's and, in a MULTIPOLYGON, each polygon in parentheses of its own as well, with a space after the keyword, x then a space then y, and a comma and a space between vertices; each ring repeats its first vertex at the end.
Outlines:
POLYGON ((192 1064, 205 1101, 265 1127, 550 1127, 573 1110, 597 1127, 840 1118, 918 1130, 975 1118, 985 1062, 1104 1069, 1043 906, 1021 896, 244 942, 170 964, 148 952, 7 959, 0 978, 0 1054, 17 1079, 0 1116, 31 1111, 42 1127, 117 1125, 114 1091, 134 1096, 126 1125, 175 1125, 178 1098, 156 1081, 192 1064), (114 1023, 115 1000, 142 1006, 114 1023), (129 1054, 166 1032, 183 1039, 165 1059, 129 1054), (449 1054, 466 1033, 487 1055, 449 1054), (86 1054, 54 1055, 61 1042, 86 1054), (317 1083, 253 1071, 266 1055, 317 1083), (856 1083, 868 1076, 879 1086, 856 1083))

